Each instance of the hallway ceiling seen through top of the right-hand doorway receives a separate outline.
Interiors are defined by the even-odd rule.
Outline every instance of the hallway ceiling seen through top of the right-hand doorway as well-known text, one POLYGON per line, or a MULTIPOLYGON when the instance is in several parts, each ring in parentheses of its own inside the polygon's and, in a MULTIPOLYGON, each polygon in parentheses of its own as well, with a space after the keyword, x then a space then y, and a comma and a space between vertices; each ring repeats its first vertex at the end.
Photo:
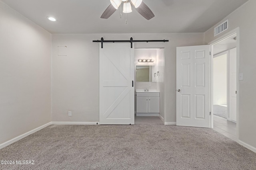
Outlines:
POLYGON ((224 51, 227 51, 229 49, 233 49, 236 47, 236 40, 234 40, 235 35, 232 35, 231 37, 224 39, 223 41, 220 41, 218 44, 213 46, 213 55, 222 53, 224 51))

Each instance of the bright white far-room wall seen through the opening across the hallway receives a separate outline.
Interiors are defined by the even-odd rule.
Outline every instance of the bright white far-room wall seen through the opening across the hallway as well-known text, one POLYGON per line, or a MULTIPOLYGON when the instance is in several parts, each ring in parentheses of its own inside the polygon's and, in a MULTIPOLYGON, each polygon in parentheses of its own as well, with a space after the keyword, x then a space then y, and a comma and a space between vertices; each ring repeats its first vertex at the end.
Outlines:
POLYGON ((213 58, 213 104, 227 104, 227 54, 213 58))

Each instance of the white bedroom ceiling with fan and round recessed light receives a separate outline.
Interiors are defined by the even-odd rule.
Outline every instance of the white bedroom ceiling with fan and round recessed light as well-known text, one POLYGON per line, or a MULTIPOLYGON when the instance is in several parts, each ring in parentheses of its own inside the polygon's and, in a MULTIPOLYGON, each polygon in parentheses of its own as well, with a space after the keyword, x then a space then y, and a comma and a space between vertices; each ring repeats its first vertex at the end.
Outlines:
POLYGON ((100 16, 110 0, 2 0, 50 33, 196 33, 205 32, 248 0, 143 0, 155 17, 132 13, 120 19, 119 9, 100 16), (51 22, 47 16, 58 21, 51 22))

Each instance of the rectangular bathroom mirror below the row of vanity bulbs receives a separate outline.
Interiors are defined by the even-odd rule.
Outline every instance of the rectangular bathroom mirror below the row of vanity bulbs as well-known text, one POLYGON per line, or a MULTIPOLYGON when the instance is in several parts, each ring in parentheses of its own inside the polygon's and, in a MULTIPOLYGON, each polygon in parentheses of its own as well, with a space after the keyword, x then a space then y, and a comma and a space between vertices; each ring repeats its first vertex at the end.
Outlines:
POLYGON ((136 66, 136 82, 156 82, 156 66, 136 66))

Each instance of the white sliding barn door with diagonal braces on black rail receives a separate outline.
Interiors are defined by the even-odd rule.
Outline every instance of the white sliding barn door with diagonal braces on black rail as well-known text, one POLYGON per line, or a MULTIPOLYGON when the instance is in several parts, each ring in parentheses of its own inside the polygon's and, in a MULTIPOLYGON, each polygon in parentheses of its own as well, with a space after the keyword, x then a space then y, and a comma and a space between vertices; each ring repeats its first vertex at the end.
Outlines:
POLYGON ((130 43, 100 44, 100 124, 134 124, 133 84, 130 43))

